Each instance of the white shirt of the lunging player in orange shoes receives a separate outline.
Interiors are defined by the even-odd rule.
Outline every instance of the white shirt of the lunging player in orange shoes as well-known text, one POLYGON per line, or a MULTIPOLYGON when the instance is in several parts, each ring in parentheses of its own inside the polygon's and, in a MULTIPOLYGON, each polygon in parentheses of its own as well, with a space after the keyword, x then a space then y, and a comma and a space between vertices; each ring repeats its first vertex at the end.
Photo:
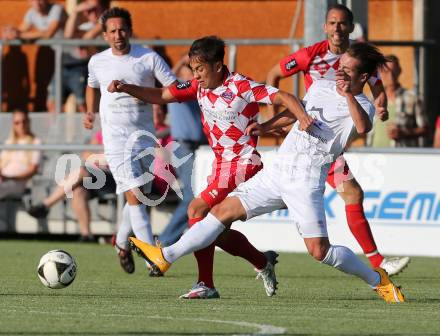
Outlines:
MULTIPOLYGON (((373 104, 364 94, 355 98, 372 121, 373 104)), ((343 152, 355 130, 347 100, 337 93, 335 81, 320 80, 310 86, 304 104, 307 114, 316 119, 315 123, 307 132, 300 131, 299 123, 295 123, 279 153, 309 153, 315 159, 325 159, 325 163, 333 162, 343 152)))

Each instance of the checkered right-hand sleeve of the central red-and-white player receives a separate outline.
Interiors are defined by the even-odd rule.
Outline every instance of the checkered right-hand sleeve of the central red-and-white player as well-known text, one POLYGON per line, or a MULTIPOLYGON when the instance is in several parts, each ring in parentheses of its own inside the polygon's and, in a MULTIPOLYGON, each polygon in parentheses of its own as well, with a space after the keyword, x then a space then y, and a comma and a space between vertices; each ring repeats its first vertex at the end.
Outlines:
POLYGON ((235 82, 238 94, 248 103, 273 104, 275 94, 279 91, 270 85, 243 78, 235 82))

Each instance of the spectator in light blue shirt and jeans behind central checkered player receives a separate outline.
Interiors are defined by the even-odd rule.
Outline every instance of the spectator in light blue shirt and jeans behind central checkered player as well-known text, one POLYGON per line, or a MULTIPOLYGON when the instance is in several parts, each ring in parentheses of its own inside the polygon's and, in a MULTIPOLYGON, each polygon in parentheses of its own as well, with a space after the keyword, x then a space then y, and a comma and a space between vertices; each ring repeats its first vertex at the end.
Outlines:
MULTIPOLYGON (((193 75, 188 66, 188 57, 182 58, 173 68, 179 80, 191 80, 193 75)), ((197 102, 168 104, 170 116, 171 137, 179 144, 175 155, 181 159, 185 156, 190 158, 180 167, 175 167, 180 180, 183 200, 176 208, 165 230, 159 237, 163 246, 175 243, 183 231, 188 227, 187 209, 194 194, 191 186, 191 176, 194 165, 195 151, 201 144, 206 144, 206 138, 202 131, 200 110, 197 102)))

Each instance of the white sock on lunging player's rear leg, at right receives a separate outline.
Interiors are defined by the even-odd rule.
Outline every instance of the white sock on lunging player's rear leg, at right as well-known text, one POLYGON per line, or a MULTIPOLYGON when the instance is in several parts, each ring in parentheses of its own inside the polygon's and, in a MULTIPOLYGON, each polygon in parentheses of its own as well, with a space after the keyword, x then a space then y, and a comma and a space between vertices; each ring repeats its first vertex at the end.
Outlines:
POLYGON ((379 273, 365 265, 353 251, 345 246, 331 245, 322 263, 344 273, 356 275, 373 288, 380 282, 379 273))

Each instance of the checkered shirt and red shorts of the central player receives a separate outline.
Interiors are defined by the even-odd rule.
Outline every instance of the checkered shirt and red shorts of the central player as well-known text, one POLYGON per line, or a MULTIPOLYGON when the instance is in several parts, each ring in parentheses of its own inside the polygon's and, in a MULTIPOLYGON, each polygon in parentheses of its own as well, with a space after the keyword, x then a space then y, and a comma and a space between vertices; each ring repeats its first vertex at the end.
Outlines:
POLYGON ((278 89, 226 68, 222 85, 215 89, 204 89, 192 79, 169 90, 179 102, 199 103, 203 131, 215 154, 208 187, 201 197, 212 207, 261 169, 258 137, 245 135, 244 131, 257 120, 258 104, 272 104, 278 89))

